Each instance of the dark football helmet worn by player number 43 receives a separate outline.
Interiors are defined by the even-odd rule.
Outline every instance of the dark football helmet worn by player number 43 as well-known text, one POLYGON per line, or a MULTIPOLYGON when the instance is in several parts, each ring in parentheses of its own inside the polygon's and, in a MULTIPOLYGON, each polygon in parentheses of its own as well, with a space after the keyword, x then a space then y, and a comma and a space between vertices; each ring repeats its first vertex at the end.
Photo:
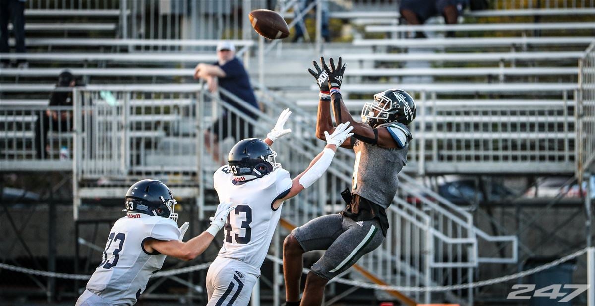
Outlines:
POLYGON ((267 143, 258 138, 246 138, 238 141, 231 147, 227 162, 234 180, 238 182, 262 178, 281 168, 275 162, 275 153, 267 143))

